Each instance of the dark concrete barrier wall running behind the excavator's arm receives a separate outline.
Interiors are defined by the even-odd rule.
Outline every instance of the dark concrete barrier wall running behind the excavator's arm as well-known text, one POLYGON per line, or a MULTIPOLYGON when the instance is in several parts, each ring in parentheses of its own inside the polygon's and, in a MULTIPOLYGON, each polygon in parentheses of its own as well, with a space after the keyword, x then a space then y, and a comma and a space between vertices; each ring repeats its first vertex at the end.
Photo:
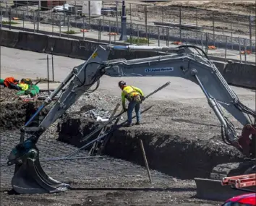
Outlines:
MULTIPOLYGON (((59 56, 69 56, 76 59, 87 60, 98 45, 106 43, 74 40, 66 38, 50 37, 25 32, 0 30, 0 44, 11 48, 21 48, 29 51, 53 53, 59 56)), ((159 53, 145 51, 113 51, 109 59, 140 59, 150 56, 158 56, 159 53)), ((231 85, 251 87, 256 86, 256 68, 253 64, 233 63, 226 64, 223 61, 213 61, 223 74, 223 77, 231 85)))

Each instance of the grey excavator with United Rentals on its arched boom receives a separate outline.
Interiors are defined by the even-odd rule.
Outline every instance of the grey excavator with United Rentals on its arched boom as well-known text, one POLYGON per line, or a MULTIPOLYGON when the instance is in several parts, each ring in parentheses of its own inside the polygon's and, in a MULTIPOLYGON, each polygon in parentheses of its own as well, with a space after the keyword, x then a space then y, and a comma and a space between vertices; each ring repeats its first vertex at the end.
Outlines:
POLYGON ((87 61, 72 69, 66 79, 43 101, 38 111, 20 129, 20 142, 12 149, 7 161, 8 166, 15 165, 12 177, 12 189, 15 192, 18 194, 52 193, 63 192, 70 188, 70 185, 52 179, 43 171, 36 144, 41 134, 56 119, 59 119, 82 94, 93 93, 97 90, 103 75, 110 77, 181 77, 195 82, 201 88, 208 100, 208 105, 221 122, 223 142, 239 150, 244 157, 244 161, 240 163, 216 166, 209 179, 195 179, 197 194, 200 194, 202 198, 207 196, 205 193, 208 188, 210 198, 213 196, 217 198, 220 192, 218 189, 210 189, 210 186, 213 184, 221 186, 223 178, 256 172, 256 113, 244 106, 201 48, 192 45, 174 47, 100 45, 87 61), (119 51, 150 51, 156 52, 158 56, 131 60, 108 59, 111 52, 119 51), (96 87, 91 90, 93 85, 96 87), (59 95, 59 99, 54 102, 40 124, 30 126, 43 108, 53 102, 56 95, 59 95), (236 133, 234 124, 224 115, 223 108, 243 125, 241 135, 236 133))

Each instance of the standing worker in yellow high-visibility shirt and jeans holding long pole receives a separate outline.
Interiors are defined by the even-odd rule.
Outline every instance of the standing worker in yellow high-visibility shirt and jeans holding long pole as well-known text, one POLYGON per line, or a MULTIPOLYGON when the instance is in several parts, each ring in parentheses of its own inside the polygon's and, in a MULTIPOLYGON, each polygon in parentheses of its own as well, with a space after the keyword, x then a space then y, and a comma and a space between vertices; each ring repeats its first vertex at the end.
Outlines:
POLYGON ((140 103, 145 100, 142 90, 134 86, 127 86, 127 83, 124 81, 119 82, 119 87, 122 90, 121 92, 121 103, 124 111, 127 111, 127 124, 125 126, 132 126, 132 111, 135 109, 137 122, 136 125, 140 124, 140 103), (129 101, 128 109, 125 106, 125 99, 129 101))

